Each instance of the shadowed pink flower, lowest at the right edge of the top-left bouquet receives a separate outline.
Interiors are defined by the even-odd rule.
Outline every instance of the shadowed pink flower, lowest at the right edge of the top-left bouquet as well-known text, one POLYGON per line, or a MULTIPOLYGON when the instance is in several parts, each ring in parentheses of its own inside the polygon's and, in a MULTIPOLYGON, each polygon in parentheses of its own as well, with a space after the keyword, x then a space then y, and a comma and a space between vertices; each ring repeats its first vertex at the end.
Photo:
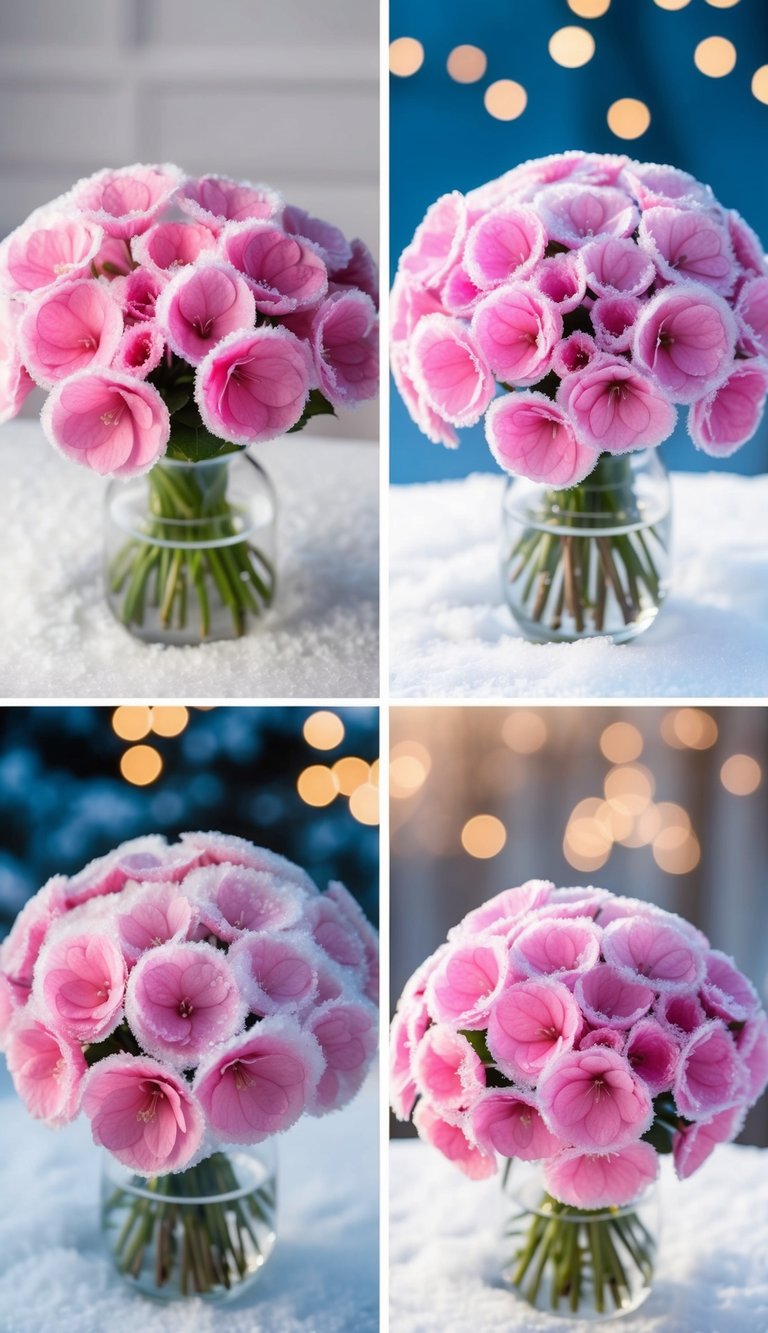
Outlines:
POLYGON ((379 389, 379 324, 364 292, 335 292, 312 320, 320 389, 337 407, 364 403, 379 389))

